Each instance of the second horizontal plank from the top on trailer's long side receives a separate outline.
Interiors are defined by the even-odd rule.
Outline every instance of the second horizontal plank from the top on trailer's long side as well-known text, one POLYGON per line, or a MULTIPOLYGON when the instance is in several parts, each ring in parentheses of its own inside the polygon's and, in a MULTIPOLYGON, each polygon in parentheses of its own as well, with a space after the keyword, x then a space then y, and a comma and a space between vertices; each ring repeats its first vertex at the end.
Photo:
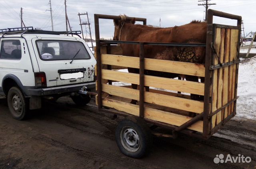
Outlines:
MULTIPOLYGON (((102 78, 139 85, 139 74, 102 69, 102 78)), ((204 95, 204 83, 145 75, 145 86, 204 95)))

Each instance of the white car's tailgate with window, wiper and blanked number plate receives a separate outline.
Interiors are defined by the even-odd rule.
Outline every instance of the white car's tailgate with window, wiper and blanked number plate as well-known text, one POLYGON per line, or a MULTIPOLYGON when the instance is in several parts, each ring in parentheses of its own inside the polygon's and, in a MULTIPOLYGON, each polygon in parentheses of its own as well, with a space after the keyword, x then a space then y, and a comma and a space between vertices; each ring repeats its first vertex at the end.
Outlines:
POLYGON ((32 45, 47 87, 94 81, 96 60, 82 39, 34 38, 32 45))

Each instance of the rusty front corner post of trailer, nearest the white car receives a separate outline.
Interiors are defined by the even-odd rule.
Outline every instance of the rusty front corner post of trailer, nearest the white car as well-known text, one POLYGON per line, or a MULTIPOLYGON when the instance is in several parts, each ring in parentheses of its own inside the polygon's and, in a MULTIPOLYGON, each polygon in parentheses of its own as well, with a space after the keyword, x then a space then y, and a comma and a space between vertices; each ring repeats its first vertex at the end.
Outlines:
POLYGON ((97 56, 97 93, 98 93, 98 110, 102 108, 102 84, 101 84, 101 55, 100 55, 100 28, 99 16, 94 14, 95 39, 96 39, 96 56, 97 56))

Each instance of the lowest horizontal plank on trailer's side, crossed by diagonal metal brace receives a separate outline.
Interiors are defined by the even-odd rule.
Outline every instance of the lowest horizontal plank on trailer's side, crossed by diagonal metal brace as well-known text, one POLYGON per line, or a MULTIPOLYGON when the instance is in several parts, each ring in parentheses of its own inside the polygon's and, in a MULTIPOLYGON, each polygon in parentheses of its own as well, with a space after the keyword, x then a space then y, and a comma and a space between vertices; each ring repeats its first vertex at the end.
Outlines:
MULTIPOLYGON (((114 108, 122 112, 126 112, 128 114, 132 114, 135 116, 139 115, 139 106, 135 104, 120 102, 120 101, 116 101, 108 98, 102 98, 102 105, 106 107, 114 108)), ((181 126, 188 120, 192 119, 191 117, 182 116, 182 115, 174 114, 171 112, 164 112, 162 110, 156 110, 148 107, 145 107, 144 118, 147 118, 150 120, 156 120, 158 122, 163 122, 163 123, 171 124, 174 126, 181 126)), ((198 121, 195 124, 192 124, 190 127, 188 127, 188 129, 194 130, 197 132, 202 132, 203 122, 198 121)))

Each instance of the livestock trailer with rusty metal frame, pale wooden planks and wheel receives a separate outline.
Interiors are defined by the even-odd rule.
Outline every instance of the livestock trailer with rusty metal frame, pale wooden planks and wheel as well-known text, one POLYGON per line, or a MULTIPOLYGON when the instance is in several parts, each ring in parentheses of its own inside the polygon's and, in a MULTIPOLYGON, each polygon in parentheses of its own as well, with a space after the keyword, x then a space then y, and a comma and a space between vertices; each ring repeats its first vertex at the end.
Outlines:
MULTIPOLYGON (((118 124, 116 141, 122 153, 142 157, 150 141, 148 126, 160 126, 177 132, 208 139, 236 114, 238 63, 241 16, 208 10, 206 43, 154 43, 100 40, 99 19, 120 19, 120 16, 94 14, 97 59, 97 95, 99 110, 121 115, 134 115, 118 124), (213 16, 237 20, 237 26, 212 24, 213 16), (140 45, 140 57, 123 56, 116 45, 140 45), (144 45, 206 47, 206 62, 195 64, 178 61, 148 59, 144 45), (171 66, 170 66, 171 65, 171 66), (120 71, 127 67, 140 69, 140 74, 120 71), (204 83, 144 75, 144 70, 204 77, 204 83), (117 86, 116 82, 137 84, 117 86), (150 86, 149 92, 144 86, 150 86), (152 88, 153 87, 153 88, 152 88), (161 89, 161 90, 158 90, 161 89), (190 95, 204 96, 204 101, 192 100, 190 95), (131 100, 138 104, 130 104, 131 100), (116 111, 118 110, 118 111, 116 111), (194 115, 194 116, 191 116, 194 115)), ((126 20, 132 18, 127 17, 126 20)), ((146 19, 136 18, 146 24, 146 19)))

